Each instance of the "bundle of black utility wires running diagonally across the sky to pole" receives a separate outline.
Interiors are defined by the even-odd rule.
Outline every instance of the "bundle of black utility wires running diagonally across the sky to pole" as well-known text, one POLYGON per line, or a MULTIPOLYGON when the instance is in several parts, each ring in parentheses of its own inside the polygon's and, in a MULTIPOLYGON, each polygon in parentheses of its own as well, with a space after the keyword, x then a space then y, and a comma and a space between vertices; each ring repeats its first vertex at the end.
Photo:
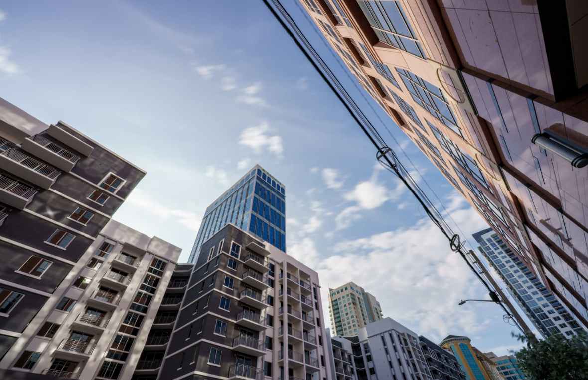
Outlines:
MULTIPOLYGON (((297 1, 297 0, 293 0, 297 1)), ((443 215, 440 214, 439 211, 435 208, 435 205, 430 201, 427 197, 425 192, 422 191, 420 186, 417 184, 410 172, 406 170, 405 166, 402 162, 398 159, 395 152, 387 146, 386 142, 379 134, 377 129, 372 125, 369 119, 363 114, 362 109, 359 108, 358 104, 356 104, 355 100, 349 93, 346 91, 345 87, 339 82, 339 79, 333 74, 329 66, 323 61, 320 57, 318 52, 316 52, 315 48, 310 44, 306 36, 300 31, 300 28, 296 24, 296 22, 292 19, 289 15, 288 11, 283 7, 280 3, 280 0, 263 0, 263 3, 268 7, 269 11, 272 15, 276 18, 282 28, 288 33, 290 38, 295 42, 298 46, 300 51, 308 58, 310 64, 314 66, 316 71, 319 75, 325 80, 326 84, 332 89, 335 95, 339 98, 345 108, 349 111, 349 114, 352 118, 358 123, 362 131, 368 137, 370 142, 376 147, 376 159, 382 166, 384 166, 388 171, 395 174, 400 181, 402 181, 409 191, 415 196, 415 199, 419 202, 419 204, 423 207, 423 210, 429 216, 429 219, 440 229, 443 235, 447 238, 450 243, 450 247, 452 251, 459 253, 460 256, 464 259, 466 264, 469 266, 470 269, 475 273, 477 278, 482 282, 482 284, 486 287, 489 291, 490 298, 496 302, 504 311, 505 311, 505 322, 509 322, 510 320, 515 321, 517 328, 523 332, 523 334, 529 336, 530 338, 534 338, 532 333, 529 329, 523 329, 519 323, 517 323, 516 319, 514 319, 513 314, 506 308, 506 306, 502 303, 499 296, 496 294, 495 289, 490 286, 485 279, 482 278, 480 273, 477 269, 473 266, 473 264, 467 259, 467 253, 463 248, 462 242, 460 241, 459 235, 455 234, 451 227, 447 224, 443 215), (270 2, 273 4, 270 4, 270 2)), ((392 135, 392 134, 390 134, 392 135)), ((457 225, 457 224, 456 224, 457 225)), ((458 226, 459 228, 459 226, 458 226)), ((479 262, 475 263, 481 265, 479 262)))

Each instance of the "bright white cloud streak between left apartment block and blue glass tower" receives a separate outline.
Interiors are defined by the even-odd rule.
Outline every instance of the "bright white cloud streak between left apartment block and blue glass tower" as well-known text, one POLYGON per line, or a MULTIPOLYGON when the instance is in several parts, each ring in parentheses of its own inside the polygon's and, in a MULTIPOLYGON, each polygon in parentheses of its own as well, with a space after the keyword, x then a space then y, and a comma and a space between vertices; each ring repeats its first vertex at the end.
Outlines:
POLYGON ((192 232, 198 232, 201 218, 195 212, 173 209, 160 204, 141 189, 134 189, 126 203, 140 208, 143 212, 155 215, 166 222, 177 222, 192 232))

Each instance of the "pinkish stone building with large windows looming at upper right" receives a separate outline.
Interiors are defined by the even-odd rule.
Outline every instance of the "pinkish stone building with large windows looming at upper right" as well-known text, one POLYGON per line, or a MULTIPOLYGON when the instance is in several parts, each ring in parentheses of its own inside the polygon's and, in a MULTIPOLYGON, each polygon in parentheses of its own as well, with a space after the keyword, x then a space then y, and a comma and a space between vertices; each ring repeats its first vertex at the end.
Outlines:
POLYGON ((366 91, 588 325, 584 2, 300 2, 366 91))

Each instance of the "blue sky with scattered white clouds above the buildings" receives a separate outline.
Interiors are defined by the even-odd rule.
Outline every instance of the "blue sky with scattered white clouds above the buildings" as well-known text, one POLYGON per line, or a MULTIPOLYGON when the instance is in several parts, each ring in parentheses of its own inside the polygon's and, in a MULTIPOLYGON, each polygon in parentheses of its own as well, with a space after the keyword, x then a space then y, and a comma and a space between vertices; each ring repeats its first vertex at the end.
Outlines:
MULTIPOLYGON (((0 96, 42 121, 62 119, 148 172, 115 219, 180 246, 185 260, 206 206, 259 163, 286 185, 288 254, 319 272, 323 302, 329 286, 355 281, 385 316, 434 341, 469 335, 497 354, 519 346, 497 306, 457 306, 484 289, 376 165, 373 146, 261 1, 165 4, 0 6, 0 96)), ((367 100, 295 0, 285 4, 465 235, 486 228, 367 100)))

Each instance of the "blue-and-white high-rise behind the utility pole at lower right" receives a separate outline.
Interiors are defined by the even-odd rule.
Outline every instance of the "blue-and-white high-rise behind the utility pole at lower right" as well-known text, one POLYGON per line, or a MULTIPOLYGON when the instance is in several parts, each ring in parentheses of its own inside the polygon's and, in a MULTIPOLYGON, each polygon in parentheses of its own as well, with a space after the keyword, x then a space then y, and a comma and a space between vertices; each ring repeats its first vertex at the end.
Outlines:
POLYGON ((505 282, 510 294, 543 336, 573 336, 583 331, 573 315, 546 289, 491 228, 473 234, 480 252, 505 282))

